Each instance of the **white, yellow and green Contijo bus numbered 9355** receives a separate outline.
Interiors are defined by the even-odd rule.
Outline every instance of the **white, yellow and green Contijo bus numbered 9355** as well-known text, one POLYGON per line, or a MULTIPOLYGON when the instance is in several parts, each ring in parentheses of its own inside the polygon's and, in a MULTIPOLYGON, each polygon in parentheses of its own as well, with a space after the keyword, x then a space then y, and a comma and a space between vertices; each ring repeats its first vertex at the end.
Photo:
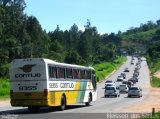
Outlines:
POLYGON ((93 67, 56 62, 45 58, 14 59, 10 68, 12 106, 56 107, 96 101, 97 86, 93 67))

